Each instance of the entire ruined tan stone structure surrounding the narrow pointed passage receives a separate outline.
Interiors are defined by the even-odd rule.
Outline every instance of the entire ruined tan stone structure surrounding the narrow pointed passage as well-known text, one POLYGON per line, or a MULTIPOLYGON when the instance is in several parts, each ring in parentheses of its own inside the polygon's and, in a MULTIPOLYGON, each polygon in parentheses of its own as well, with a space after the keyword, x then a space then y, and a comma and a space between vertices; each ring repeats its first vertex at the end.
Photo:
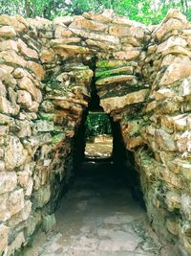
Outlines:
POLYGON ((53 218, 95 84, 134 152, 126 164, 150 223, 191 254, 190 49, 191 24, 174 10, 152 27, 110 11, 0 16, 0 254, 53 218))

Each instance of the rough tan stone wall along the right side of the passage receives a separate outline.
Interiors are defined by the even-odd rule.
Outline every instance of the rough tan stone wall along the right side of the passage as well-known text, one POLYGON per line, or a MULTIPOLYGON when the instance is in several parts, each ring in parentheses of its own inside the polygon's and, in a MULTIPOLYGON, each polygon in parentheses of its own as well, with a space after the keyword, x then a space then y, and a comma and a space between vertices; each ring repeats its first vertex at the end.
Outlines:
POLYGON ((175 11, 153 28, 142 65, 149 97, 137 114, 121 119, 127 149, 135 151, 149 220, 182 255, 191 253, 190 35, 190 23, 175 11))

